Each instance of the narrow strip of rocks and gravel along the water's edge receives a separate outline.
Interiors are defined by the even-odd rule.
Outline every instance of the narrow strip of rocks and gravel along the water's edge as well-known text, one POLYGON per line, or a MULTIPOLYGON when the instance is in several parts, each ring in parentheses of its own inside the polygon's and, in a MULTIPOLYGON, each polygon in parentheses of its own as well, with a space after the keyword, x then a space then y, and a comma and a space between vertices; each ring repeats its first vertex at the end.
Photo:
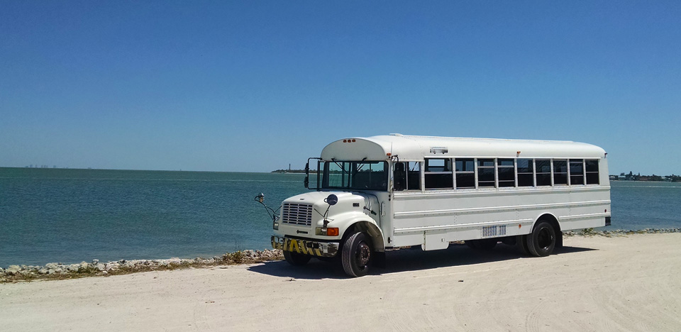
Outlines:
MULTIPOLYGON (((563 236, 627 236, 631 234, 652 233, 681 233, 681 228, 644 228, 642 230, 600 231, 587 228, 582 231, 566 231, 563 236)), ((20 282, 33 280, 62 280, 80 277, 125 275, 134 272, 147 272, 156 270, 176 270, 189 267, 210 267, 215 265, 250 264, 269 260, 283 260, 282 250, 243 250, 234 253, 226 253, 212 258, 168 260, 118 260, 114 262, 80 262, 77 264, 64 264, 50 262, 45 265, 10 265, 6 269, 0 267, 0 283, 20 282)))

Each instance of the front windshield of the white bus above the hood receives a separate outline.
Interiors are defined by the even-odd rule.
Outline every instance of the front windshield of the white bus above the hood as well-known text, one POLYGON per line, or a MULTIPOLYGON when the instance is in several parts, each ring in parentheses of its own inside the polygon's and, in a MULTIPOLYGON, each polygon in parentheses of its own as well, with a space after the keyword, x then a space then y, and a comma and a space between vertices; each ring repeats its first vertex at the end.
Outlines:
POLYGON ((388 189, 388 163, 384 161, 324 162, 323 189, 388 189))

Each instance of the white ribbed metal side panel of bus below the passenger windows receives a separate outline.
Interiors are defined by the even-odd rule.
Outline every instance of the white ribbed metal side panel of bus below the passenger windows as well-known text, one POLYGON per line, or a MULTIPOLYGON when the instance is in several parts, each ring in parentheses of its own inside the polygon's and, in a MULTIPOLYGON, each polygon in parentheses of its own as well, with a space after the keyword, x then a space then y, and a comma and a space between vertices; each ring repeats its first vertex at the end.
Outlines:
POLYGON ((406 192, 395 194, 393 209, 393 245, 428 250, 437 248, 437 241, 528 234, 543 214, 558 218, 562 231, 604 226, 609 187, 406 192))

